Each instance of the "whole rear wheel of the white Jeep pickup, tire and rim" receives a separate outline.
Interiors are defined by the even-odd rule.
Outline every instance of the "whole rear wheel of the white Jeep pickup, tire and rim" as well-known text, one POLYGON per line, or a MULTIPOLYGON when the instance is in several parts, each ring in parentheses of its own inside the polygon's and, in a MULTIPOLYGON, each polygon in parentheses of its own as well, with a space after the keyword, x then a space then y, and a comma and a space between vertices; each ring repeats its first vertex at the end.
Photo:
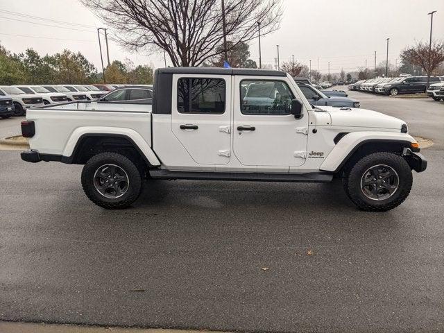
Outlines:
POLYGON ((130 206, 142 192, 142 176, 135 163, 118 153, 100 153, 83 167, 82 187, 96 205, 106 209, 130 206))

